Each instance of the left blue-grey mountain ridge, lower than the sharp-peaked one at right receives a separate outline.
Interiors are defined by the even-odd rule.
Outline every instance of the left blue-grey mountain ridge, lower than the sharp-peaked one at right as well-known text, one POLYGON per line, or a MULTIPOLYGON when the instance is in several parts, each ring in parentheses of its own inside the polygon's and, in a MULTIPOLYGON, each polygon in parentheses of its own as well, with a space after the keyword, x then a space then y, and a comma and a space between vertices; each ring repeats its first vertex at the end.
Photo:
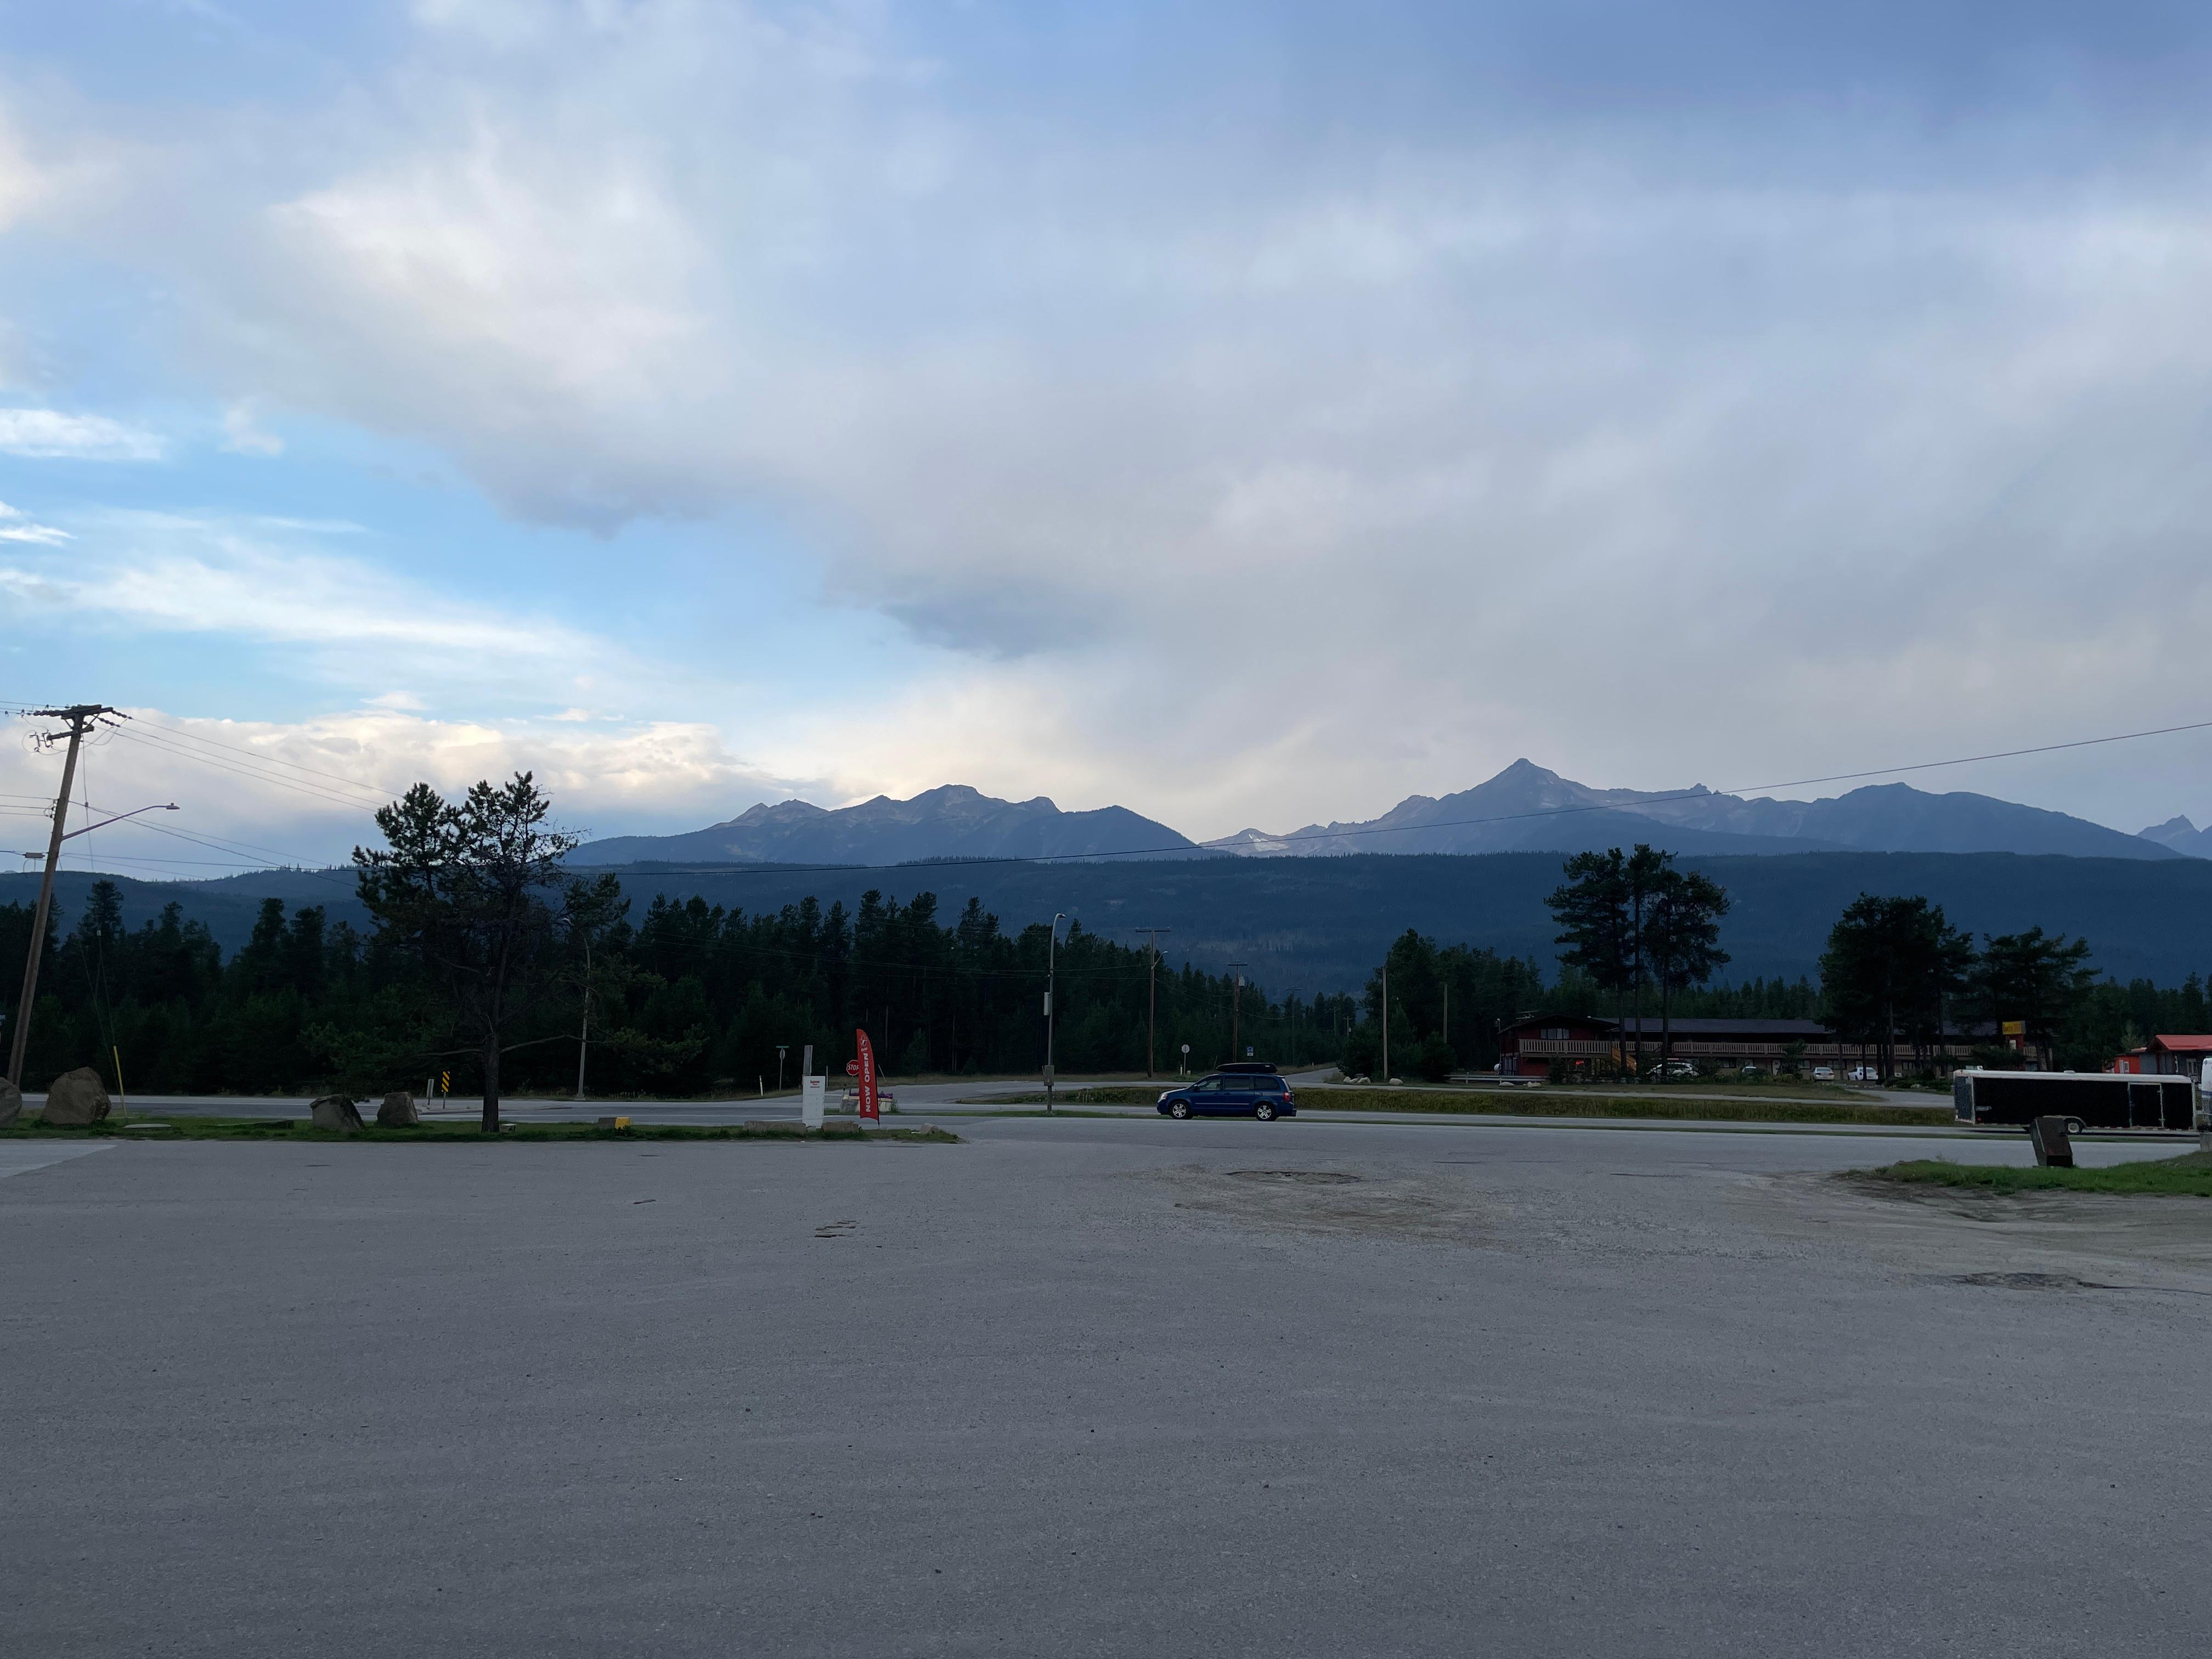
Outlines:
POLYGON ((805 801, 757 805, 728 823, 679 836, 608 836, 571 854, 577 865, 909 865, 922 858, 1084 858, 1161 847, 1203 856, 1188 836, 1128 807, 1062 812, 1042 794, 1000 801, 962 783, 911 801, 878 794, 854 807, 805 801))

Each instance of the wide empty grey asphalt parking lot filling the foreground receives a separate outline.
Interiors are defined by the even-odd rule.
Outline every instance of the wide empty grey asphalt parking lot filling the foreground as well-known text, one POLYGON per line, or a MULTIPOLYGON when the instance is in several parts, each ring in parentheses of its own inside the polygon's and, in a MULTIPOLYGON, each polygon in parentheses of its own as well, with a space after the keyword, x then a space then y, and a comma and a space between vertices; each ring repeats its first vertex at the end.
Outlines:
POLYGON ((0 1148, 7 1646, 2201 1641, 2212 1203, 1827 1179, 1929 1150, 1867 1137, 956 1128, 0 1148))

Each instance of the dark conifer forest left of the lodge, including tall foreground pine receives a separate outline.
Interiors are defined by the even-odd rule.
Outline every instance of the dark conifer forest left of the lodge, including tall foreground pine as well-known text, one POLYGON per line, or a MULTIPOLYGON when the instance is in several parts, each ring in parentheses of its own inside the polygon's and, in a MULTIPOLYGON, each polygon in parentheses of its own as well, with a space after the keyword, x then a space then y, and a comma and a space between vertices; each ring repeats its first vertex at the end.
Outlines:
MULTIPOLYGON (((1048 922, 1006 929, 973 898, 949 918, 936 894, 757 914, 655 898, 633 918, 613 876, 564 867, 575 836, 549 812, 526 774, 458 801, 416 785, 356 852, 372 931, 270 898, 228 960, 177 905, 126 929, 95 883, 66 936, 49 918, 27 1082, 97 1064, 148 1095, 369 1095, 442 1075, 495 1121, 502 1095, 571 1095, 580 1048, 591 1095, 697 1097, 794 1086, 807 1044, 841 1075, 856 1031, 894 1079, 1020 1075, 1044 1062, 1048 958, 1064 1071, 1141 1073, 1148 1037, 1159 1073, 1206 1071, 1232 1033, 1327 1064, 1358 1020, 1356 998, 1270 995, 1082 925, 1055 949, 1048 922)), ((31 907, 0 905, 7 1009, 29 929, 31 907)))

